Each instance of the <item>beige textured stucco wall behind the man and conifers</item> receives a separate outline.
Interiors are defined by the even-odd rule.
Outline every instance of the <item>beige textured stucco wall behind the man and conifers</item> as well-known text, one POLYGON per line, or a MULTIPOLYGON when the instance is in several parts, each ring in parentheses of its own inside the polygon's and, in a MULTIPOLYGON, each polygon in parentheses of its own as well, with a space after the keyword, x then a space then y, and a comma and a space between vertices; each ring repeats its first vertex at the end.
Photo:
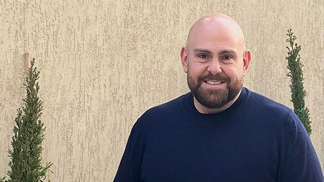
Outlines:
POLYGON ((302 45, 311 140, 324 164, 324 1, 0 1, 0 176, 9 169, 24 53, 41 71, 44 162, 52 181, 112 181, 148 108, 186 92, 179 52, 207 13, 233 17, 253 59, 245 86, 292 107, 286 31, 302 45))

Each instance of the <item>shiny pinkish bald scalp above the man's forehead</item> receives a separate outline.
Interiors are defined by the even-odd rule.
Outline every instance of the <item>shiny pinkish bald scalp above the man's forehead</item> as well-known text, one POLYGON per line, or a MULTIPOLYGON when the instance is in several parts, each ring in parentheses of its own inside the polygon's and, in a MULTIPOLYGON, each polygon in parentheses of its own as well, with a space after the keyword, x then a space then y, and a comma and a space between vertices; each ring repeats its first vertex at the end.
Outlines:
POLYGON ((230 35, 233 41, 236 41, 245 50, 245 40, 241 27, 227 15, 209 14, 199 18, 189 31, 186 47, 190 47, 197 38, 206 33, 212 33, 215 36, 230 35))

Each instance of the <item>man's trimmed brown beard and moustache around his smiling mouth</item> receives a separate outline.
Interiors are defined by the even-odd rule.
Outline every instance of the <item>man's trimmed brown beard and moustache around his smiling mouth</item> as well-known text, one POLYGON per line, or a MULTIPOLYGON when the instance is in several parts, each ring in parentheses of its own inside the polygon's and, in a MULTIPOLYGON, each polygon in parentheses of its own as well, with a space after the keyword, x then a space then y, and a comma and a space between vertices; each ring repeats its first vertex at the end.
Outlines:
MULTIPOLYGON (((243 79, 239 79, 231 82, 230 78, 220 74, 213 75, 211 73, 207 75, 199 76, 195 82, 194 78, 187 74, 188 86, 196 98, 196 100, 206 108, 218 109, 232 101, 240 92, 243 85, 243 79), (211 89, 201 87, 201 83, 205 80, 217 80, 226 83, 225 88, 211 89)), ((223 83, 222 83, 223 84, 223 83)))

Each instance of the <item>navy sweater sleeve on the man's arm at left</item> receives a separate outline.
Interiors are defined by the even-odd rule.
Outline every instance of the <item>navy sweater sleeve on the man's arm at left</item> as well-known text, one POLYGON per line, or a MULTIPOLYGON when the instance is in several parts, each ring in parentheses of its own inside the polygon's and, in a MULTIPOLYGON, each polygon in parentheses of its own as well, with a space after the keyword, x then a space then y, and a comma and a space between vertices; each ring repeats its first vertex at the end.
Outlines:
POLYGON ((121 158, 114 182, 140 181, 141 164, 144 152, 144 136, 141 123, 137 121, 129 136, 126 149, 121 158))

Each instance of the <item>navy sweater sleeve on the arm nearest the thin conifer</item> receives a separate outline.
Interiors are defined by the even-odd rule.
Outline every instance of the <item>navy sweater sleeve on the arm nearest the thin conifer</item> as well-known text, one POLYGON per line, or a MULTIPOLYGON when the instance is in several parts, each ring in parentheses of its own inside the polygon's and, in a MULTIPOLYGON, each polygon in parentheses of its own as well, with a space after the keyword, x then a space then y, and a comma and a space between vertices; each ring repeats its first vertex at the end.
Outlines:
POLYGON ((299 118, 292 114, 282 134, 277 181, 324 181, 315 150, 299 118))

